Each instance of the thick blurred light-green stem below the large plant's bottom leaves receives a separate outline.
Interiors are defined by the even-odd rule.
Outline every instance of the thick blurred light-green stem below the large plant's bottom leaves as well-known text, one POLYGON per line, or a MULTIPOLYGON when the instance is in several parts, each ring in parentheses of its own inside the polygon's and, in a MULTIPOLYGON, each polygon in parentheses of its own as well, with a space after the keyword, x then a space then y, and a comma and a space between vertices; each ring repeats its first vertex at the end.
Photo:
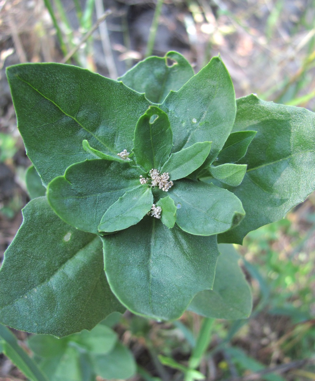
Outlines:
POLYGON ((188 366, 190 369, 196 369, 201 362, 203 355, 205 354, 210 341, 211 341, 211 330, 213 326, 214 319, 205 317, 203 319, 199 335, 196 341, 196 346, 193 348, 192 355, 190 356, 188 366))

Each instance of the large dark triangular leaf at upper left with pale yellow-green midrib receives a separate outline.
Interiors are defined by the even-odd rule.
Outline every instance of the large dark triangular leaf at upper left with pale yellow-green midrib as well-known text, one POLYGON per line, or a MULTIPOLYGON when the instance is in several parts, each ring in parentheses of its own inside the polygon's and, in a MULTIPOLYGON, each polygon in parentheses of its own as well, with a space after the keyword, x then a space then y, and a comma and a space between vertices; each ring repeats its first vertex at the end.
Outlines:
POLYGON ((122 82, 56 63, 7 69, 18 127, 27 155, 44 184, 91 158, 91 146, 108 155, 132 148, 134 128, 150 106, 122 82))

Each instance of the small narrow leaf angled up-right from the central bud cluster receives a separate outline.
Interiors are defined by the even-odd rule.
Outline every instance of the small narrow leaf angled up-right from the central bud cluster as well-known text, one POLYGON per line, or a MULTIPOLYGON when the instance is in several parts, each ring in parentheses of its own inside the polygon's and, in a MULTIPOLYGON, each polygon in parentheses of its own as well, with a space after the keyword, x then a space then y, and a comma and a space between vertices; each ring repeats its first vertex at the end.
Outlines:
POLYGON ((171 180, 182 179, 200 167, 209 155, 211 142, 198 142, 171 154, 162 166, 161 173, 168 172, 171 180))

